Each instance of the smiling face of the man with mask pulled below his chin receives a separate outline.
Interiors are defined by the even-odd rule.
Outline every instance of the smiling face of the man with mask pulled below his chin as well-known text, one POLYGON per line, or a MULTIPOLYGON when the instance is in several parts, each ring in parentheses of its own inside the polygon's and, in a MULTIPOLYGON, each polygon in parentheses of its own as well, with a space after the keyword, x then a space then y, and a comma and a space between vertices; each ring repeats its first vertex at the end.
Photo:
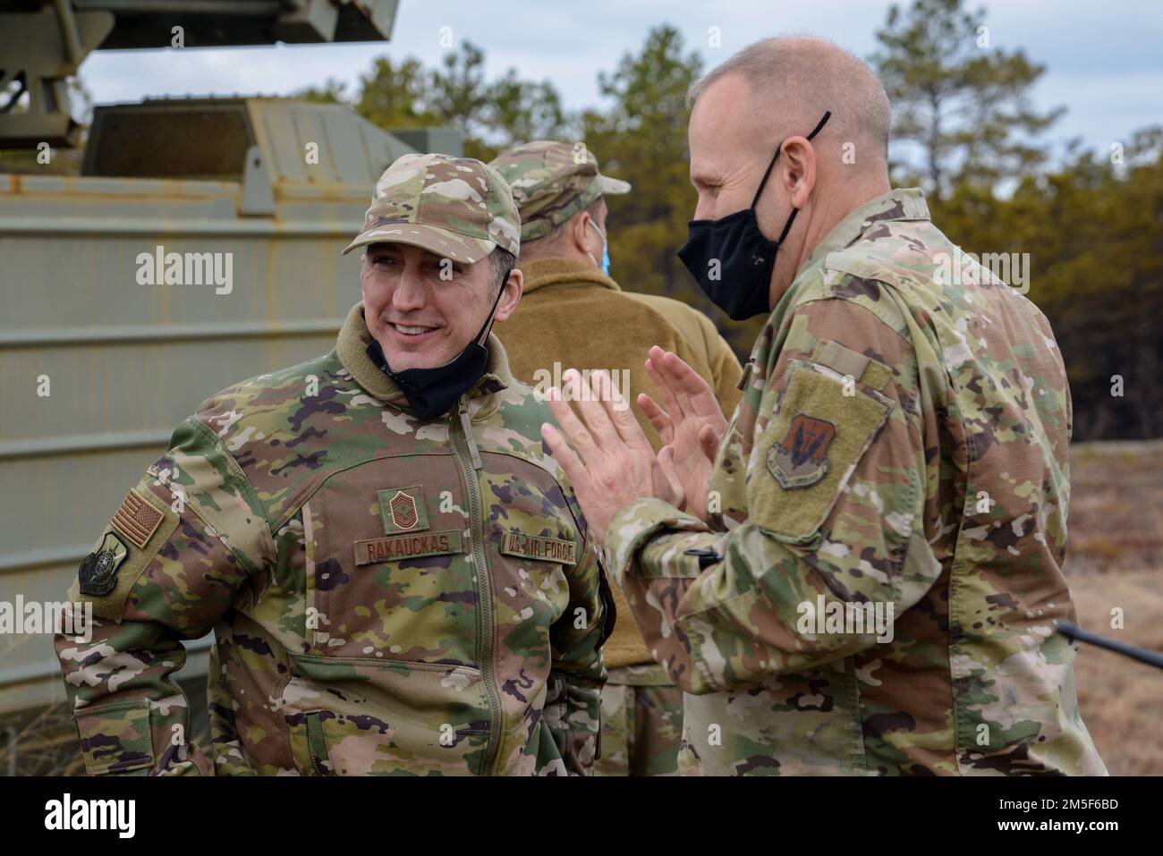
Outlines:
MULTIPOLYGON (((411 244, 371 244, 361 273, 364 320, 393 371, 433 369, 480 333, 497 298, 488 257, 463 264, 411 244)), ((497 304, 504 321, 521 299, 514 269, 497 304)))

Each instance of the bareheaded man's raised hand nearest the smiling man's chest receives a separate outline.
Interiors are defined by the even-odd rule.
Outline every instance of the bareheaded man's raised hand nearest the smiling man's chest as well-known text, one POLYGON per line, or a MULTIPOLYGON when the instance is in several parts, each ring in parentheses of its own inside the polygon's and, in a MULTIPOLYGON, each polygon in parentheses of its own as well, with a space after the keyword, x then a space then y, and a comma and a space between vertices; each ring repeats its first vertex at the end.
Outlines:
POLYGON ((622 506, 643 497, 677 505, 682 497, 668 480, 609 374, 599 371, 591 377, 593 386, 575 369, 562 378, 580 419, 562 400, 557 387, 547 391, 561 430, 547 423, 541 427, 541 436, 573 484, 590 530, 605 544, 606 527, 622 506))

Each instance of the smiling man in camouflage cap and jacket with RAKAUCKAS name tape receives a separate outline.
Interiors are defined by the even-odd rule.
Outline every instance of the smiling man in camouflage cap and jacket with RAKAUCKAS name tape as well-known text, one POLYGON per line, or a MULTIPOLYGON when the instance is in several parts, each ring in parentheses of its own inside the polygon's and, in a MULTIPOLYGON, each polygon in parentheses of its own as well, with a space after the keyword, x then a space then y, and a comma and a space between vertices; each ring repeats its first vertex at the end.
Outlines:
POLYGON ((363 302, 335 349, 177 428, 78 573, 92 642, 56 639, 90 773, 592 769, 608 590, 551 415, 487 334, 519 224, 479 160, 399 158, 344 250, 363 302), (423 372, 480 341, 419 415, 423 372), (170 676, 212 629, 204 751, 170 676))

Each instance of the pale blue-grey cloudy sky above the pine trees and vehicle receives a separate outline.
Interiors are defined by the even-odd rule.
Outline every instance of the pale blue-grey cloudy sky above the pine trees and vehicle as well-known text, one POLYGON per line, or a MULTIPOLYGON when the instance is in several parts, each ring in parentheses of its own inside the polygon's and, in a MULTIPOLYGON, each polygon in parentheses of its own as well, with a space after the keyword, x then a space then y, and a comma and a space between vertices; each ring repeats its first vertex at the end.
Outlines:
MULTIPOLYGON (((511 66, 521 77, 548 79, 573 109, 600 105, 599 70, 613 70, 637 51, 649 29, 678 27, 705 67, 755 38, 785 33, 821 36, 862 57, 876 49, 889 0, 401 0, 390 42, 249 49, 98 51, 81 66, 97 104, 147 95, 288 94, 327 78, 348 81, 349 92, 374 57, 416 56, 435 65, 445 49, 441 28, 455 43, 468 38, 485 51, 487 77, 511 66), (504 9, 492 16, 487 8, 504 9), (721 47, 707 47, 711 27, 721 47)), ((1047 134, 1061 144, 1080 136, 1108 149, 1130 131, 1163 124, 1163 2, 1160 0, 1006 0, 978 5, 994 47, 1021 48, 1047 66, 1035 105, 1068 112, 1047 134)))

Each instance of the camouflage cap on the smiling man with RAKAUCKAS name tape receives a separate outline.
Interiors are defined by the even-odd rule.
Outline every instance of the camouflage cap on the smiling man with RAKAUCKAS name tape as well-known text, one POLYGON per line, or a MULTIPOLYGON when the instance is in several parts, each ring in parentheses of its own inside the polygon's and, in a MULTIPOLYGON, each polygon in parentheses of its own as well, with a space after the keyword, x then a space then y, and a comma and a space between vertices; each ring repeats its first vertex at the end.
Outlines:
POLYGON ((379 177, 363 229, 343 252, 376 243, 412 244, 475 264, 494 247, 515 256, 521 219, 508 184, 480 160, 402 155, 379 177))

